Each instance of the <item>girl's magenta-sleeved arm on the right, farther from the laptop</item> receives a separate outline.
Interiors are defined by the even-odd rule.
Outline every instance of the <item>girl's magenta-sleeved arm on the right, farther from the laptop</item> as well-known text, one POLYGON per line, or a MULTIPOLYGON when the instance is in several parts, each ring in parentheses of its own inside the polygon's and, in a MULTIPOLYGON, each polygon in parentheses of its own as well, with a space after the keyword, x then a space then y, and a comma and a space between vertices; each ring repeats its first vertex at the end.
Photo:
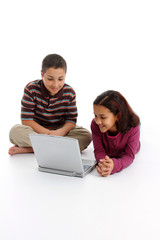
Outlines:
POLYGON ((121 158, 112 158, 114 162, 113 173, 120 172, 124 168, 128 167, 134 160, 135 154, 140 149, 140 127, 134 127, 130 130, 130 136, 127 140, 126 147, 122 152, 121 158))

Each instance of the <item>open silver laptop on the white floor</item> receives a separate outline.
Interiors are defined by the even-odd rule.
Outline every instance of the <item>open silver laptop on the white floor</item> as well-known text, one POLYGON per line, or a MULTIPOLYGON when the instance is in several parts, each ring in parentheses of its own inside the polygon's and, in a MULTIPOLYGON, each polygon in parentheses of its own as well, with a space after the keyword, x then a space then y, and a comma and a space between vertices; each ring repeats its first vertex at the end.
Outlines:
POLYGON ((29 134, 31 144, 42 172, 84 177, 96 161, 81 157, 77 139, 44 134, 29 134))

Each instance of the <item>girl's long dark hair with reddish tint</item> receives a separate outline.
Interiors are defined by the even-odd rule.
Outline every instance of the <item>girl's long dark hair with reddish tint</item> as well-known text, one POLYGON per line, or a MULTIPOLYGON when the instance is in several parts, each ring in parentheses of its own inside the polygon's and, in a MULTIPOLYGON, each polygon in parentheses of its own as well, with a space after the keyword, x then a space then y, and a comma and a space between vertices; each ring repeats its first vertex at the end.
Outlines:
POLYGON ((118 116, 116 126, 121 133, 125 133, 131 127, 140 124, 139 117, 133 112, 122 94, 117 91, 108 90, 103 92, 95 99, 93 104, 102 105, 108 108, 115 116, 118 116))

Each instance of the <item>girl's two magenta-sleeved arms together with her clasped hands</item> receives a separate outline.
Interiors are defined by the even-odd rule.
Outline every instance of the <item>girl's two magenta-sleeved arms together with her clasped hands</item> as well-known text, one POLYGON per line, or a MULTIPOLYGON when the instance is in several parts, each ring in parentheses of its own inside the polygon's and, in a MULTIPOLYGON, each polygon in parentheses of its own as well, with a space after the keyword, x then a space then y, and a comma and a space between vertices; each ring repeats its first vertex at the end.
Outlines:
POLYGON ((98 161, 97 171, 101 176, 107 176, 109 174, 113 174, 119 171, 122 171, 124 168, 128 167, 134 160, 135 154, 140 149, 140 128, 139 126, 132 128, 129 132, 129 137, 127 139, 127 143, 124 151, 122 152, 121 158, 109 158, 102 144, 102 137, 99 133, 98 126, 96 127, 96 123, 94 120, 91 124, 92 136, 93 136, 93 144, 94 144, 94 152, 96 160, 98 161), (107 159, 107 161, 106 161, 107 159), (107 167, 107 170, 106 170, 107 167), (111 170, 111 171, 110 171, 111 170), (109 174, 107 174, 108 172, 109 174))

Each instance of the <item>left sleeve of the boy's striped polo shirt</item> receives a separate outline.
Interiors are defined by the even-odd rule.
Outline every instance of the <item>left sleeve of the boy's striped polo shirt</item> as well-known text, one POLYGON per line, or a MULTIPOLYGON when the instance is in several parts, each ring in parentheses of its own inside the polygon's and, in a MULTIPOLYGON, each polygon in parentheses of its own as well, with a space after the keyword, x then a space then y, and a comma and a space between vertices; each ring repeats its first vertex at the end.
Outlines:
POLYGON ((34 119, 35 103, 32 92, 29 90, 28 85, 24 88, 24 94, 21 100, 21 120, 34 119))

